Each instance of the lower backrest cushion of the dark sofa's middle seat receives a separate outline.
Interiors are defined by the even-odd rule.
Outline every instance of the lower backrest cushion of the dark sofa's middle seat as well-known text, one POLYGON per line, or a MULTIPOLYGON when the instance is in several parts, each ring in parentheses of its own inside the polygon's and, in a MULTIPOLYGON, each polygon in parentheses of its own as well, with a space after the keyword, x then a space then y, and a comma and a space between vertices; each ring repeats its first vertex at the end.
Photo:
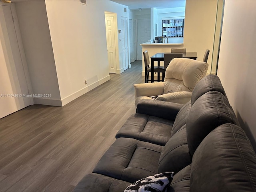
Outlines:
POLYGON ((158 172, 177 173, 191 164, 192 156, 188 151, 186 125, 176 132, 165 144, 158 161, 158 172))

